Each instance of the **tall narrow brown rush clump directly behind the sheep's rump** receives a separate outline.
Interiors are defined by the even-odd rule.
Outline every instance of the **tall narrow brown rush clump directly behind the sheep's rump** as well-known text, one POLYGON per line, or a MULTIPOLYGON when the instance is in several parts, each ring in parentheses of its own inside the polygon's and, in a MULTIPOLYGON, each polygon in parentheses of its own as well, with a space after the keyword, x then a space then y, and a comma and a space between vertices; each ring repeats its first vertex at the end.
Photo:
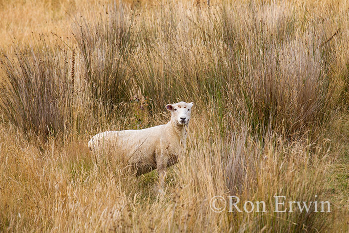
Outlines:
POLYGON ((116 3, 106 9, 107 17, 97 22, 76 19, 74 37, 84 60, 84 77, 91 98, 116 105, 129 97, 127 75, 132 19, 116 3))

